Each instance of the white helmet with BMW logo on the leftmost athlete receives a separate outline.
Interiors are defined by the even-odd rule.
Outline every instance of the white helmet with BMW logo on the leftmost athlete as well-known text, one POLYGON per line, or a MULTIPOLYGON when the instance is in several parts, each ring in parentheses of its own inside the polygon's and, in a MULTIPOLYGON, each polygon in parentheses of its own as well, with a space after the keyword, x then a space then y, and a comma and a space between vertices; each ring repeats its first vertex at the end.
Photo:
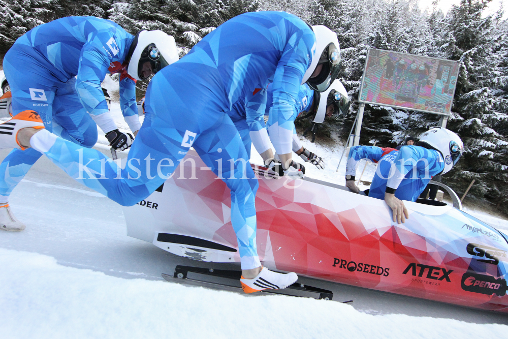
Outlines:
POLYGON ((145 80, 141 70, 150 63, 153 74, 178 60, 175 38, 162 30, 140 30, 134 38, 125 61, 129 63, 127 73, 137 80, 145 80))

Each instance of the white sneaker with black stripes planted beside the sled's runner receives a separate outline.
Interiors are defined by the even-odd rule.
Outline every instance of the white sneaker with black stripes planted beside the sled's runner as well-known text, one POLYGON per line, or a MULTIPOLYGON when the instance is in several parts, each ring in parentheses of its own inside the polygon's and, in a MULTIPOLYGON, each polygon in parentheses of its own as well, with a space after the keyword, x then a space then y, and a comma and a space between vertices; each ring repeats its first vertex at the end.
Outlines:
POLYGON ((281 290, 292 285, 297 280, 298 275, 294 272, 277 273, 263 267, 256 278, 245 279, 242 276, 240 282, 243 292, 253 293, 263 290, 281 290))

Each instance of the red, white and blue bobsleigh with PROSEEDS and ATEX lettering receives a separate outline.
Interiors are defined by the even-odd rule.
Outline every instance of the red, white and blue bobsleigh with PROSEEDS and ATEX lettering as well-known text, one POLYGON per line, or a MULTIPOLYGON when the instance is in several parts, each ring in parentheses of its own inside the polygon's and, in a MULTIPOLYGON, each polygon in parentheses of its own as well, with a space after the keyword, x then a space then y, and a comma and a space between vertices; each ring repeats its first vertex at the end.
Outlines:
MULTIPOLYGON (((398 225, 383 200, 312 178, 275 178, 253 167, 259 178, 258 254, 269 269, 508 312, 508 236, 463 212, 456 194, 443 184, 438 183, 451 194, 454 207, 405 201, 409 219, 398 225)), ((229 189, 206 169, 191 149, 163 186, 123 208, 128 235, 181 257, 239 262, 229 189)), ((163 276, 182 281, 192 274, 240 287, 239 268, 177 266, 174 274, 163 276)), ((332 297, 330 291, 298 283, 278 292, 332 297)))

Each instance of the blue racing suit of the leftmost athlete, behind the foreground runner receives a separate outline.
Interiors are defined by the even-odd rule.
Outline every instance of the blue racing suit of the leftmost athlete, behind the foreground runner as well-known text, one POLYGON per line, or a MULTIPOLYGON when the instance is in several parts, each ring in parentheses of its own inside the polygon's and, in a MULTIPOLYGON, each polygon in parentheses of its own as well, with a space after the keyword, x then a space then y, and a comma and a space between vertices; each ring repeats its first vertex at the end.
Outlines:
MULTIPOLYGON (((136 81, 122 65, 133 39, 116 23, 96 17, 61 18, 29 30, 4 57, 13 113, 36 110, 48 131, 92 147, 96 122, 104 133, 117 128, 101 82, 108 73, 120 73, 122 113, 131 130, 139 130, 136 81)), ((41 156, 35 149, 15 149, 4 159, 0 202, 41 156)))

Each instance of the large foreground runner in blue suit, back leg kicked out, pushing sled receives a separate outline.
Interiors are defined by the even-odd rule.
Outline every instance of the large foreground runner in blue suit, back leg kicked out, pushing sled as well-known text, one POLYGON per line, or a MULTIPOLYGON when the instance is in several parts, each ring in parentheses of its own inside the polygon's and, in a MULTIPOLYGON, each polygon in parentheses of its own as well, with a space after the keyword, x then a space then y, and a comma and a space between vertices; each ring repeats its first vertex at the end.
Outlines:
MULTIPOLYGON (((34 30, 37 34, 37 28, 34 30)), ((244 291, 281 289, 298 277, 293 272, 272 272, 260 263, 255 208, 258 180, 227 112, 253 88, 272 83, 269 113, 274 124, 270 137, 283 174, 298 175, 300 169, 291 155, 300 85, 307 83, 323 92, 340 67, 337 36, 327 27, 311 27, 285 12, 245 13, 217 27, 188 54, 153 77, 147 88, 143 126, 132 144, 128 163, 150 155, 159 166, 126 166, 118 169, 118 178, 115 163, 107 162, 97 150, 49 133, 34 111, 24 111, 0 125, 10 131, 0 134, 0 145, 32 147, 76 180, 125 206, 136 204, 161 186, 194 147, 215 174, 221 171, 220 177, 231 190, 231 223, 238 240, 244 291), (78 150, 82 159, 97 159, 87 168, 98 174, 78 179, 78 150)))

